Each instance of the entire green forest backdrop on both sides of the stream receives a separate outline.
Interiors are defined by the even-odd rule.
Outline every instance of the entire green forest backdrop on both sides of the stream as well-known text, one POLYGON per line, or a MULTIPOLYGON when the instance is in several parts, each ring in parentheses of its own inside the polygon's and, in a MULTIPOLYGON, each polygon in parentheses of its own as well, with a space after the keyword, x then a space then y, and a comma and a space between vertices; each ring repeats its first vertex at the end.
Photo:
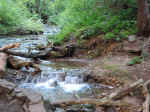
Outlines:
POLYGON ((120 40, 137 32, 137 0, 1 0, 0 34, 41 32, 44 23, 61 32, 54 43, 70 37, 120 40))

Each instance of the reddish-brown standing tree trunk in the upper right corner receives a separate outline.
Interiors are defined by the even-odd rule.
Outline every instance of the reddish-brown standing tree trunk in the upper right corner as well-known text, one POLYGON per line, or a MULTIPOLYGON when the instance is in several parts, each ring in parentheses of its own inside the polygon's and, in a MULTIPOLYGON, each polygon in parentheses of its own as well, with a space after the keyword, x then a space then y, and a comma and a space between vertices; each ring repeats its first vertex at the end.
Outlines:
POLYGON ((150 15, 147 0, 138 0, 138 35, 149 36, 150 15))

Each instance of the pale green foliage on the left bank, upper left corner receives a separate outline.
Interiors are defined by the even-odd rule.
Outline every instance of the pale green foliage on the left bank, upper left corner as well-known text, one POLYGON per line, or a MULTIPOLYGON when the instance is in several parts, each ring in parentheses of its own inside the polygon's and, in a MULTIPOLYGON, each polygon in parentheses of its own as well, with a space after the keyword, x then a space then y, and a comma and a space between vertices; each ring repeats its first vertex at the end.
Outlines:
POLYGON ((0 34, 41 30, 41 22, 31 15, 21 1, 0 1, 0 34))

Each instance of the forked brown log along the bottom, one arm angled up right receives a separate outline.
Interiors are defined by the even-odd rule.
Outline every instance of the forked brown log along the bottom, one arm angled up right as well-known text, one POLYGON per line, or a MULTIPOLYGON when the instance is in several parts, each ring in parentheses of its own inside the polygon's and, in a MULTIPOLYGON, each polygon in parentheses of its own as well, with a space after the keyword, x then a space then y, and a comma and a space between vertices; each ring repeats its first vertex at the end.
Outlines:
POLYGON ((131 91, 137 89, 138 87, 141 87, 141 85, 143 85, 142 79, 131 84, 128 88, 120 89, 119 91, 116 91, 115 93, 112 93, 109 96, 104 97, 102 99, 79 99, 79 100, 55 102, 55 103, 51 103, 51 104, 56 107, 63 107, 66 105, 73 105, 73 104, 93 104, 93 105, 97 105, 97 106, 127 106, 128 104, 125 102, 114 101, 114 100, 117 100, 117 99, 127 95, 131 91))

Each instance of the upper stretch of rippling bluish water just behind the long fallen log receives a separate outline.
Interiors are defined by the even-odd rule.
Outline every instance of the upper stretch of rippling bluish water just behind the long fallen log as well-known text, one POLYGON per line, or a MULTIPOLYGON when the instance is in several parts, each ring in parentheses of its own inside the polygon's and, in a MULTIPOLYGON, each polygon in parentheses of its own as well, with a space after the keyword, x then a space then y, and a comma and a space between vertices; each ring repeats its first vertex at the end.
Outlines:
POLYGON ((12 51, 18 51, 22 53, 38 53, 40 48, 44 48, 48 45, 46 37, 41 36, 23 36, 23 37, 0 37, 0 47, 9 45, 12 43, 19 43, 18 48, 12 49, 12 51), (39 49, 38 49, 39 48, 39 49))

